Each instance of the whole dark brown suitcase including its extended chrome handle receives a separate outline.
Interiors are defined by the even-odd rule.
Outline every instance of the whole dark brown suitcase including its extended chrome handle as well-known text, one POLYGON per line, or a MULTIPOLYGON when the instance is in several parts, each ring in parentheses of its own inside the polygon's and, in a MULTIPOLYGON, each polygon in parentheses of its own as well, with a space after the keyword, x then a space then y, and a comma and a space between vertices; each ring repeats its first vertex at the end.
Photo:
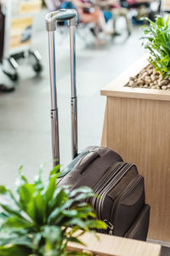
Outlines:
POLYGON ((107 224, 107 230, 98 230, 116 236, 146 239, 150 212, 144 212, 144 177, 137 167, 123 162, 122 157, 110 148, 88 147, 77 154, 77 88, 75 33, 77 12, 59 9, 46 16, 49 42, 51 121, 54 166, 59 164, 59 121, 55 73, 54 31, 56 21, 68 20, 71 38, 71 126, 72 161, 61 171, 58 186, 71 185, 71 189, 89 186, 99 197, 88 202, 97 212, 97 217, 107 224), (140 220, 142 216, 142 220, 140 220), (137 223, 137 224, 136 224, 137 223), (139 232, 135 236, 136 226, 139 232), (132 231, 132 232, 131 232, 132 231))

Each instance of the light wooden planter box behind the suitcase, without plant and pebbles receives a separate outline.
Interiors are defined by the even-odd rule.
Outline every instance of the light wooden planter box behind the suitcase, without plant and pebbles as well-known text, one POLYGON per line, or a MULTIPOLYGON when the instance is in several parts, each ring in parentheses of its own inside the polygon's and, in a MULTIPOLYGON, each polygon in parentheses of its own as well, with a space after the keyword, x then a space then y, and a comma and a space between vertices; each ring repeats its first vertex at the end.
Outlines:
POLYGON ((170 91, 124 87, 147 64, 144 56, 101 90, 101 144, 138 166, 151 207, 149 238, 170 241, 170 91))

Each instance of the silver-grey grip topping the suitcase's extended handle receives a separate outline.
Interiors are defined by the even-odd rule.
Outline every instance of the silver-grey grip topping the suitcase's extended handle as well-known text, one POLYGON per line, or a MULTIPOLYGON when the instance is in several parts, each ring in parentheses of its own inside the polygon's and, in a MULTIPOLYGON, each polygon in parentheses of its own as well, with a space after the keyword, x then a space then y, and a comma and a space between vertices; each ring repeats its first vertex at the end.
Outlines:
POLYGON ((46 26, 48 31, 56 30, 56 22, 68 20, 69 26, 77 25, 77 11, 75 9, 59 9, 46 15, 46 26))

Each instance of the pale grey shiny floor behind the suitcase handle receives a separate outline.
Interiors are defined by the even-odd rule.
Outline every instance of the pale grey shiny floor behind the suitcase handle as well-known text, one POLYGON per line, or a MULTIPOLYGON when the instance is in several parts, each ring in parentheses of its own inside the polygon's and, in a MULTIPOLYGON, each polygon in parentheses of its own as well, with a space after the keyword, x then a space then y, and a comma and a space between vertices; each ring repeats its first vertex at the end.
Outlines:
MULTIPOLYGON (((45 13, 45 12, 44 12, 45 13)), ((50 131, 50 88, 48 76, 48 35, 44 16, 37 20, 32 47, 42 55, 43 72, 36 77, 31 67, 20 66, 20 80, 14 93, 0 95, 0 166, 1 183, 14 189, 18 167, 25 166, 26 176, 32 179, 40 164, 45 164, 44 176, 52 166, 50 131)), ((86 42, 77 37, 78 145, 100 143, 105 97, 99 90, 133 61, 144 54, 139 27, 127 38, 124 20, 119 21, 121 37, 108 38, 103 47, 94 47, 89 32, 86 42)), ((69 38, 57 34, 57 80, 59 83, 59 131, 61 163, 71 160, 70 131, 70 65, 69 38)), ((1 73, 1 82, 10 83, 1 73)), ((163 248, 162 255, 170 255, 163 248)))

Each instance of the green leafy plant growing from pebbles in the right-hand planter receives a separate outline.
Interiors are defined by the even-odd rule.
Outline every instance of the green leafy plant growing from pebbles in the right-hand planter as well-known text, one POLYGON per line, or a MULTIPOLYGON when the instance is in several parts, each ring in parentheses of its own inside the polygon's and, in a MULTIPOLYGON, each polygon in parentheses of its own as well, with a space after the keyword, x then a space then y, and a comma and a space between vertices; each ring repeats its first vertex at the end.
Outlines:
POLYGON ((161 73, 163 79, 170 77, 170 16, 163 20, 156 17, 156 22, 148 20, 150 26, 144 26, 144 48, 150 52, 150 63, 161 73))

